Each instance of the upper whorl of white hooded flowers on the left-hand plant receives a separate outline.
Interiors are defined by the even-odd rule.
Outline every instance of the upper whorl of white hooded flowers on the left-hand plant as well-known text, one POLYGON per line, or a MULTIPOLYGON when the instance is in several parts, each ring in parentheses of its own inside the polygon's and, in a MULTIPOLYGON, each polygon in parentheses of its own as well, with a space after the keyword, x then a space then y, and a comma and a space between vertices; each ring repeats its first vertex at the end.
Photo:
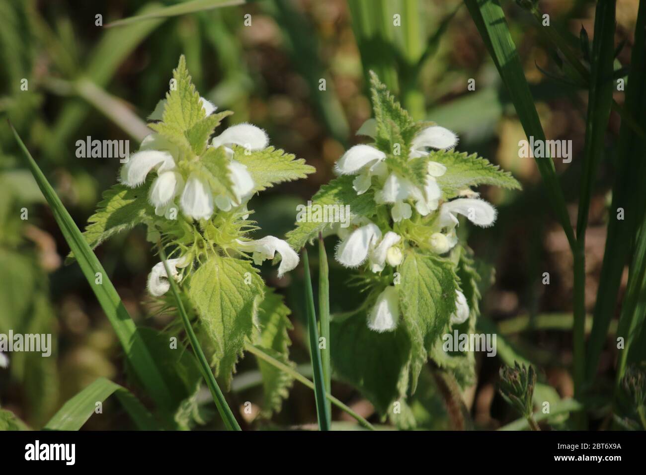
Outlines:
MULTIPOLYGON (((202 107, 207 115, 216 107, 202 99, 202 107)), ((208 219, 213 215, 214 204, 222 211, 242 206, 253 194, 254 182, 245 165, 233 160, 233 150, 227 145, 242 145, 250 151, 264 149, 267 146, 267 134, 250 124, 239 124, 229 127, 213 139, 212 145, 224 145, 225 152, 231 160, 227 165, 229 178, 233 182, 233 196, 218 195, 214 198, 211 187, 198 174, 188 177, 180 174, 176 165, 179 157, 178 147, 158 134, 150 134, 141 142, 140 150, 130 156, 127 164, 121 169, 121 183, 135 188, 145 182, 146 176, 155 171, 157 178, 152 182, 149 200, 155 207, 158 216, 169 217, 174 207, 174 200, 180 196, 180 207, 185 215, 194 219, 208 219)))

